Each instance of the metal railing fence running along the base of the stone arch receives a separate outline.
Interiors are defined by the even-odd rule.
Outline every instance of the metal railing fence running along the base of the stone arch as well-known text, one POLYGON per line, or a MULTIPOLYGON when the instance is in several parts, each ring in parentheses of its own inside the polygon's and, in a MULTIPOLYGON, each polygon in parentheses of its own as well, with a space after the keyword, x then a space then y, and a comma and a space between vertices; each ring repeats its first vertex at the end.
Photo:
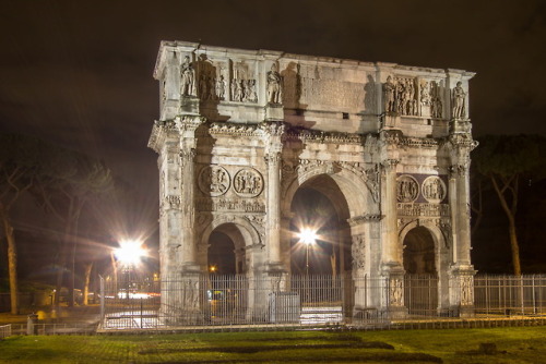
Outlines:
MULTIPOLYGON (((195 275, 176 281, 104 280, 99 329, 249 325, 381 327, 393 321, 458 317, 456 307, 450 303, 453 288, 448 279, 406 275, 396 283, 403 292, 397 307, 391 284, 392 280, 381 277, 351 275, 195 275), (448 287, 441 287, 442 282, 448 287)), ((473 315, 478 318, 546 315, 546 276, 474 277, 473 315)))

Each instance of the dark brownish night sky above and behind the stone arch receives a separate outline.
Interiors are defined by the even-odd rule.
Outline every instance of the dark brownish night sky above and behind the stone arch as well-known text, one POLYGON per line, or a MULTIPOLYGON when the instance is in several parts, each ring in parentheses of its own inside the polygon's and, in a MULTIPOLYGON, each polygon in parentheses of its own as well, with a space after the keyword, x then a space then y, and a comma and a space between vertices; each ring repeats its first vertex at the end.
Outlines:
POLYGON ((103 158, 150 226, 161 40, 467 70, 475 136, 546 135, 542 0, 2 1, 1 130, 103 158))

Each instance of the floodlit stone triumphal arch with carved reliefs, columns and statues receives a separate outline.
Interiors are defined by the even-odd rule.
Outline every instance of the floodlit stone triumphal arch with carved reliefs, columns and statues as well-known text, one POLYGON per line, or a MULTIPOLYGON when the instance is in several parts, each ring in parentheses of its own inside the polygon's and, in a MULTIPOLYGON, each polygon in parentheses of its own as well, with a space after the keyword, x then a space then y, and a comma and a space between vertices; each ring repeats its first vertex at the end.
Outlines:
POLYGON ((435 274, 439 308, 471 314, 473 75, 163 41, 149 144, 162 280, 206 272, 213 233, 233 242, 236 272, 287 277, 293 202, 305 190, 330 202, 341 227, 349 258, 336 269, 387 282, 384 296, 355 306, 403 314, 404 274, 435 274))

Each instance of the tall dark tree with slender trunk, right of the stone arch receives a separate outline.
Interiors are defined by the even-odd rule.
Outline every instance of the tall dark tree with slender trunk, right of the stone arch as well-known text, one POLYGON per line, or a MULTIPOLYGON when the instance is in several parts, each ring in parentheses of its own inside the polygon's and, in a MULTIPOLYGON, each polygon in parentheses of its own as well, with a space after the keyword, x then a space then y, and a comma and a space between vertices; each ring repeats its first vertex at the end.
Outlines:
POLYGON ((521 275, 520 245, 515 227, 522 181, 538 180, 546 171, 546 138, 539 135, 487 135, 473 153, 476 170, 486 177, 508 218, 515 275, 521 275))

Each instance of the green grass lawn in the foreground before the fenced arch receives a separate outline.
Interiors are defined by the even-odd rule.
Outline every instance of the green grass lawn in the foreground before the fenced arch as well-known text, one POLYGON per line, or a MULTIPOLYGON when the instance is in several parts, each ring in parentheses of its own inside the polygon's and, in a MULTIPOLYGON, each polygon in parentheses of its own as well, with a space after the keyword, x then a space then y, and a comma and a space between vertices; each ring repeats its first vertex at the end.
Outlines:
POLYGON ((0 363, 546 363, 546 327, 31 336, 0 363), (479 350, 480 343, 496 348, 479 350))

